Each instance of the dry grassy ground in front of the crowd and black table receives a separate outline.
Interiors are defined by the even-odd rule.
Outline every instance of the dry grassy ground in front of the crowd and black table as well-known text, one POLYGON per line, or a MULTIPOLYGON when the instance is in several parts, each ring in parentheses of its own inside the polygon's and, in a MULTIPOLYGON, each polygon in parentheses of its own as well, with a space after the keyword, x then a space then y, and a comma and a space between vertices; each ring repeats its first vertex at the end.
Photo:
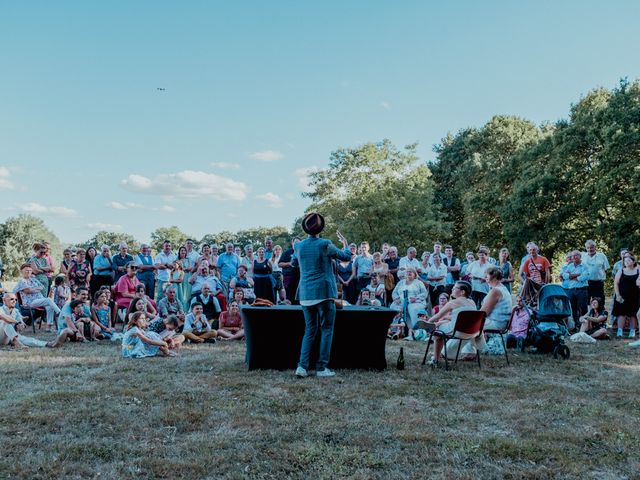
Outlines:
POLYGON ((0 350, 2 478, 638 478, 639 350, 297 380, 244 344, 0 350))

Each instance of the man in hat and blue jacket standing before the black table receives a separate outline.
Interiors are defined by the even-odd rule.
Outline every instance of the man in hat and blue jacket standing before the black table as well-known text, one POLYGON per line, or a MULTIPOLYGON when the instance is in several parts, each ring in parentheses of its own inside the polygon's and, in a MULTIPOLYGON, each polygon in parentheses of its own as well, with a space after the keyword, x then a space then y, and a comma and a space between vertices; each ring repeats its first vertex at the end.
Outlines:
POLYGON ((347 239, 340 232, 336 233, 342 243, 342 250, 335 247, 330 240, 320 238, 320 232, 324 229, 324 217, 319 213, 307 214, 302 220, 302 229, 309 236, 296 246, 291 260, 291 266, 300 266, 298 297, 305 320, 296 376, 308 376, 309 356, 319 326, 320 351, 316 363, 316 376, 333 377, 335 373, 327 368, 333 340, 333 322, 336 317, 334 298, 338 296, 332 260, 349 261, 351 251, 347 239))

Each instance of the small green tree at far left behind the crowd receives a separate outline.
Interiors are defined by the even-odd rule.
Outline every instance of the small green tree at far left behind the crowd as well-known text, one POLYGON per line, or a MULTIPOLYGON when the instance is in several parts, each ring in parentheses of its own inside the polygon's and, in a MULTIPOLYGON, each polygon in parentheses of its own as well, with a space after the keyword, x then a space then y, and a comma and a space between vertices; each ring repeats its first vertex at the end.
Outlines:
POLYGON ((32 254, 33 244, 46 241, 56 262, 62 259, 62 245, 42 219, 32 215, 18 215, 0 224, 0 258, 6 268, 5 275, 16 278, 22 265, 32 254))

